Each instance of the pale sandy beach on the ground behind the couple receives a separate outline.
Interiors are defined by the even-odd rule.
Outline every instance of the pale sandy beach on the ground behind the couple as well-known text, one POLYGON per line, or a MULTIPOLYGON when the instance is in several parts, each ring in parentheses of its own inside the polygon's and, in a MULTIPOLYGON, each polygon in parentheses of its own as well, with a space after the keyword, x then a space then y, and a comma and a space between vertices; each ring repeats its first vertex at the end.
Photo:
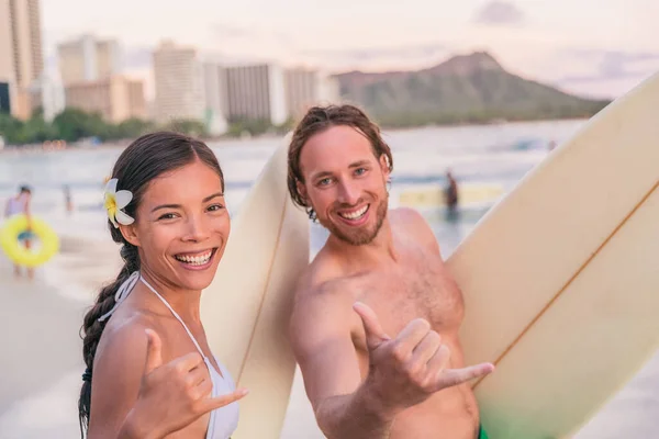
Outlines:
MULTIPOLYGON (((75 227, 71 227, 72 230, 75 227)), ((77 438, 81 341, 78 331, 98 288, 114 277, 118 248, 108 236, 89 240, 63 232, 62 252, 36 279, 14 280, 0 257, 0 438, 77 438)), ((606 359, 594 359, 606 361, 606 359)), ((574 438, 659 437, 659 354, 574 438)), ((300 375, 295 378, 282 439, 322 439, 300 375)), ((495 439, 495 438, 494 438, 495 439)))

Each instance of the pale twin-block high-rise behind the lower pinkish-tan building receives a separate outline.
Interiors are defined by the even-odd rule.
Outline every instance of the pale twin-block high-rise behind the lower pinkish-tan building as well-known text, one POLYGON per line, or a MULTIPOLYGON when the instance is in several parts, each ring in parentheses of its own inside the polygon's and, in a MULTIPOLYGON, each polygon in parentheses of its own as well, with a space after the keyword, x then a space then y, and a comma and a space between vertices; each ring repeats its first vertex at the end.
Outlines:
POLYGON ((115 40, 82 35, 57 46, 59 74, 64 85, 109 79, 121 70, 115 40))

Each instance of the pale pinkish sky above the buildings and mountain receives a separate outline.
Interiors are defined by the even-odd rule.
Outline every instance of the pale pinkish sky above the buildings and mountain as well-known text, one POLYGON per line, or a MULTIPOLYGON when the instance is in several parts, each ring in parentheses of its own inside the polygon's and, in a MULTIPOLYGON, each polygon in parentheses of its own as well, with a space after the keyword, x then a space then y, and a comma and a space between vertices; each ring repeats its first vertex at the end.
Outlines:
MULTIPOLYGON (((487 50, 509 71, 617 98, 659 71, 658 0, 42 0, 47 65, 81 34, 115 38, 150 83, 160 41, 225 61, 411 70, 487 50)), ((148 86, 147 86, 148 88, 148 86)))

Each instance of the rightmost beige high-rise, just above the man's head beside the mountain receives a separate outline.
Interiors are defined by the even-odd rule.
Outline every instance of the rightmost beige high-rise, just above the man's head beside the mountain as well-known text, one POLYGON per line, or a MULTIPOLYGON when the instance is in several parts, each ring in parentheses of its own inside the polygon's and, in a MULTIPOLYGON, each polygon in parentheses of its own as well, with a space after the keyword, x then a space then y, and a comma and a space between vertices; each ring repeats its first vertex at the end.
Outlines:
POLYGON ((286 103, 291 116, 301 117, 312 105, 337 103, 338 82, 316 69, 292 68, 284 74, 286 103))

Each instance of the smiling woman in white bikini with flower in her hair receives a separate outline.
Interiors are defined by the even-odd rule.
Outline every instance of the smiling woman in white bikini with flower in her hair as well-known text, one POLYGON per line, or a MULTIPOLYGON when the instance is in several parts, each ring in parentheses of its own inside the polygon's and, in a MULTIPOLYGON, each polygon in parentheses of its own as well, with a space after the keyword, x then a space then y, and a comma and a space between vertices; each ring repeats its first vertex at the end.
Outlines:
POLYGON ((200 319, 231 228, 215 155, 183 135, 144 135, 116 160, 104 206, 124 267, 85 316, 82 435, 228 438, 246 391, 200 319))

